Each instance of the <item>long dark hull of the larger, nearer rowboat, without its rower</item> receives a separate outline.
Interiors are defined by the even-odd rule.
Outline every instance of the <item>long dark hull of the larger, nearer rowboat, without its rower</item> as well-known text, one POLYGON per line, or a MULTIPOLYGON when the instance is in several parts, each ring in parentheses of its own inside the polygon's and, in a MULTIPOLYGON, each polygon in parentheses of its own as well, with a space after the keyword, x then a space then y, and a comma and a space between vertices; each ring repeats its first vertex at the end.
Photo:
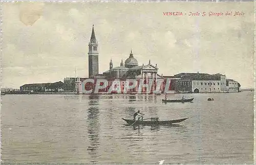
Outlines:
POLYGON ((130 119, 123 119, 127 124, 129 125, 144 125, 144 126, 152 126, 152 125, 172 125, 174 123, 180 123, 183 122, 184 120, 187 120, 188 118, 184 118, 184 119, 178 119, 178 120, 171 120, 171 121, 158 121, 158 120, 154 120, 154 121, 145 121, 145 120, 130 120, 130 119))

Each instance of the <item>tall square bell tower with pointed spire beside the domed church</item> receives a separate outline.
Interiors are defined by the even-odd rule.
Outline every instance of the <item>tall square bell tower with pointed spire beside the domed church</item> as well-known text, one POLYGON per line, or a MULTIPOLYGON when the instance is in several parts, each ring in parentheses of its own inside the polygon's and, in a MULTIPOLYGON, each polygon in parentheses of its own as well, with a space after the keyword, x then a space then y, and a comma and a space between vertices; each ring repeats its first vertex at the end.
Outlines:
POLYGON ((94 25, 92 30, 92 35, 90 42, 88 44, 89 47, 89 78, 93 78, 93 76, 99 74, 99 52, 98 52, 98 41, 96 40, 94 33, 94 25))

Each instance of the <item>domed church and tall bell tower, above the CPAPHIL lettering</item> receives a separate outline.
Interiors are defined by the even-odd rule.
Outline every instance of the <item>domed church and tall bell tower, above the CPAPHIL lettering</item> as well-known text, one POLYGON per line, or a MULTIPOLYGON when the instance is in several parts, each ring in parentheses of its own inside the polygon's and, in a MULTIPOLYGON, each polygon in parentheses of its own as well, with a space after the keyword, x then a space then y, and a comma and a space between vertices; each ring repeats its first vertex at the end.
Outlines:
POLYGON ((92 29, 91 40, 89 42, 89 78, 112 78, 112 79, 162 79, 163 77, 158 75, 157 64, 153 65, 151 60, 147 65, 139 65, 137 59, 134 57, 131 50, 130 56, 124 61, 121 60, 120 65, 113 67, 112 59, 109 63, 109 70, 99 74, 99 62, 98 62, 98 42, 95 37, 94 27, 92 29))

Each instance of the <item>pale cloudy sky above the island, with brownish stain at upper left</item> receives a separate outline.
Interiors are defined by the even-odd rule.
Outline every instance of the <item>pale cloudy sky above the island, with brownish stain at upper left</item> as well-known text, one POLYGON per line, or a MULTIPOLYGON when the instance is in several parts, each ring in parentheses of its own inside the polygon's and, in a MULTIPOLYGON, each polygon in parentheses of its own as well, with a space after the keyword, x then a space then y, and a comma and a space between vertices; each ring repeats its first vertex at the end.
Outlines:
POLYGON ((8 2, 2 3, 2 22, 2 87, 63 82, 75 68, 77 76, 88 77, 93 24, 100 73, 111 58, 119 66, 132 49, 139 65, 150 59, 163 76, 220 73, 254 86, 254 2, 8 2))

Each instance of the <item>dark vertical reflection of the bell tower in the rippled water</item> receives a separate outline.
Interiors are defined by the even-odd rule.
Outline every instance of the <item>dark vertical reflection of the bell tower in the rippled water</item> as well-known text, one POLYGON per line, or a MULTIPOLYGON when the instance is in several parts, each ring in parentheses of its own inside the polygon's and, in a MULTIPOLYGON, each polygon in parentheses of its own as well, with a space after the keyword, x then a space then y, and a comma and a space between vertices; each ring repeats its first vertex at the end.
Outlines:
MULTIPOLYGON (((89 101, 89 106, 99 104, 99 96, 90 96, 89 99, 94 99, 89 101)), ((95 160, 92 160, 91 162, 97 163, 100 129, 98 106, 88 108, 88 125, 88 137, 90 145, 88 146, 87 150, 91 158, 95 158, 95 160)))

